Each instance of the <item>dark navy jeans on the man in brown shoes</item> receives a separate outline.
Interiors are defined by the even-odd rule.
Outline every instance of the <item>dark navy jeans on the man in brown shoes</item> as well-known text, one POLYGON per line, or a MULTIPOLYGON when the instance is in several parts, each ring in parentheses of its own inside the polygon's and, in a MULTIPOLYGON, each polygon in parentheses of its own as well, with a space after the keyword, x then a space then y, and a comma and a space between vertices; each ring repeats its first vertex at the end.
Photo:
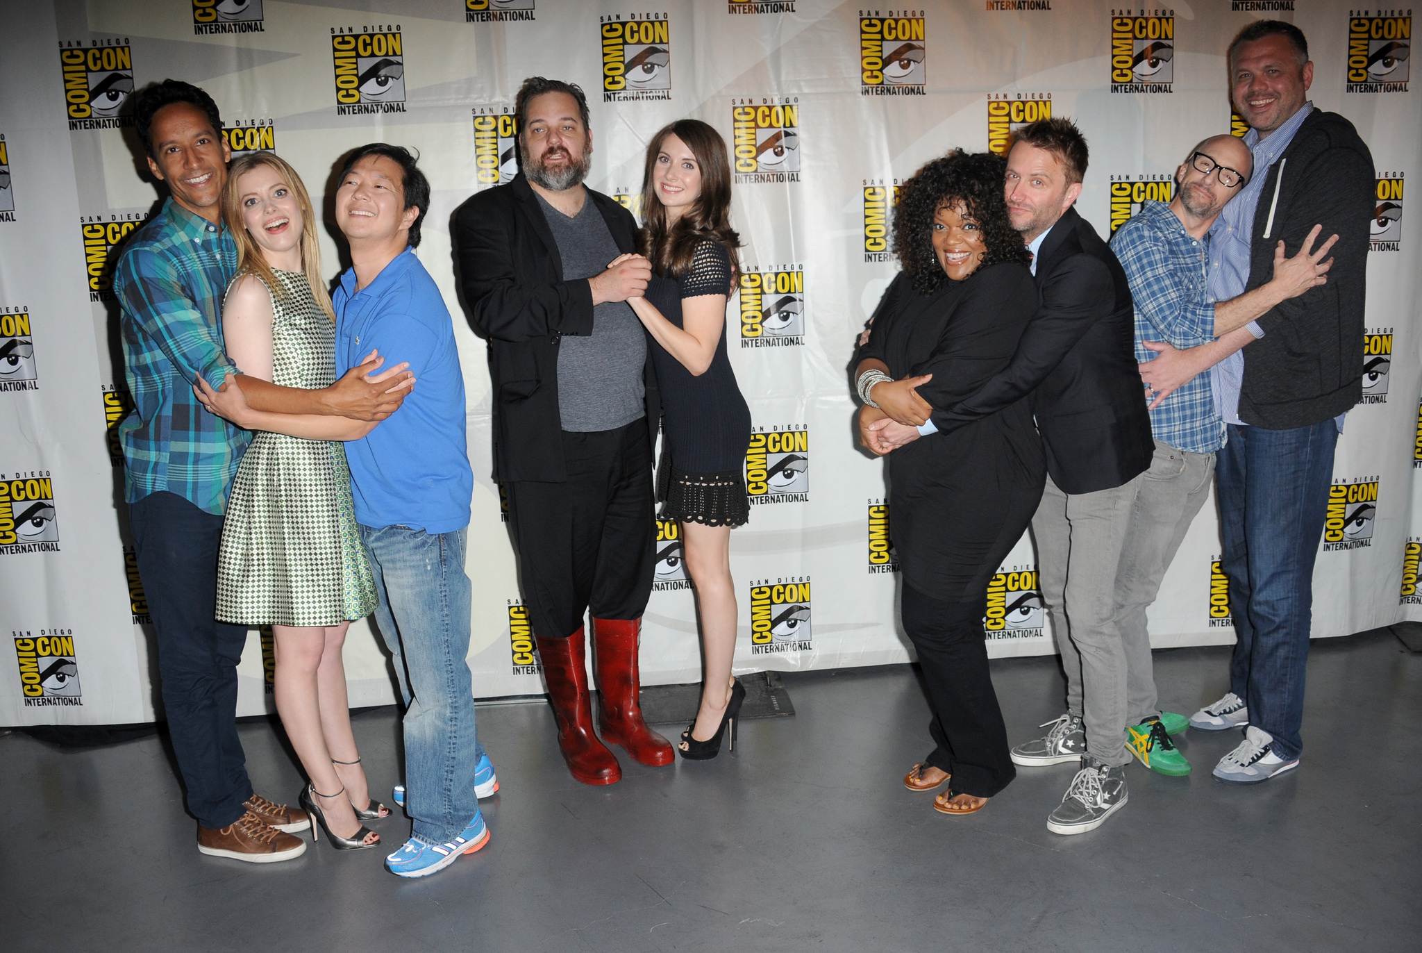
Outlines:
POLYGON ((252 782, 237 740, 237 663, 247 629, 213 617, 222 516, 158 492, 131 504, 128 522, 158 632, 164 710, 188 811, 205 828, 225 828, 246 812, 252 782))

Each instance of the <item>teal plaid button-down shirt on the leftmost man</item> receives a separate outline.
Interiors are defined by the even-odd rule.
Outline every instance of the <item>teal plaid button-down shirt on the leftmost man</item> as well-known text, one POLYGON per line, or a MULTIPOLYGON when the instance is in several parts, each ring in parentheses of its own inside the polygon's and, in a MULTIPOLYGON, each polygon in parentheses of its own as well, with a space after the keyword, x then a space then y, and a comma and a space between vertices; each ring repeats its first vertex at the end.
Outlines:
POLYGON ((118 259, 114 290, 134 411, 119 424, 125 498, 168 491, 222 515, 250 434, 203 410, 192 385, 237 373, 222 347, 222 296, 237 270, 226 230, 171 198, 118 259))

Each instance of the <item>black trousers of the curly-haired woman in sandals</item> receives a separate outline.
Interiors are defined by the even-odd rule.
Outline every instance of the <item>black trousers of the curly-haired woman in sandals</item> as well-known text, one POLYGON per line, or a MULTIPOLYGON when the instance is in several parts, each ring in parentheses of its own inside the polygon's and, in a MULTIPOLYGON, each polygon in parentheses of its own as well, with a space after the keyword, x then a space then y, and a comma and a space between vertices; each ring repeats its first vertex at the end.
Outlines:
POLYGON ((1003 710, 987 669, 987 592, 964 602, 934 599, 904 583, 900 612, 919 653, 933 706, 929 764, 953 775, 956 794, 991 798, 1017 777, 1003 710))

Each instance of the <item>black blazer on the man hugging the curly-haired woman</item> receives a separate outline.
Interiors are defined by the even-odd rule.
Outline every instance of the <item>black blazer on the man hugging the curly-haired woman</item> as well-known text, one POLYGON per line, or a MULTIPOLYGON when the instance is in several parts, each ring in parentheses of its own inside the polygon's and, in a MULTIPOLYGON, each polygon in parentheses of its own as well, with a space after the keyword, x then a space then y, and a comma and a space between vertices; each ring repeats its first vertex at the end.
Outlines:
POLYGON ((1037 256, 1041 306, 1011 364, 973 397, 936 410, 933 424, 956 430, 1031 393, 1052 482, 1068 494, 1121 486, 1155 454, 1126 273, 1075 208, 1037 256))

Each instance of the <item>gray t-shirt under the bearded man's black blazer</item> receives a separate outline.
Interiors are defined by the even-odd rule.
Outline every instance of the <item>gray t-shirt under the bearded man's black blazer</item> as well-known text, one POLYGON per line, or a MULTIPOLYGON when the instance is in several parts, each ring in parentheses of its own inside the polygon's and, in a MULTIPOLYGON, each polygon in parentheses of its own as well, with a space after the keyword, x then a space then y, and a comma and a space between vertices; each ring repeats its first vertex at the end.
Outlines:
MULTIPOLYGON (((538 195, 538 192, 535 192, 538 195)), ((593 277, 621 255, 597 205, 589 196, 567 218, 539 195, 543 218, 563 259, 563 280, 593 277)), ((647 337, 627 302, 593 307, 593 333, 563 336, 557 346, 557 410, 563 430, 616 430, 646 417, 643 367, 647 337)))

